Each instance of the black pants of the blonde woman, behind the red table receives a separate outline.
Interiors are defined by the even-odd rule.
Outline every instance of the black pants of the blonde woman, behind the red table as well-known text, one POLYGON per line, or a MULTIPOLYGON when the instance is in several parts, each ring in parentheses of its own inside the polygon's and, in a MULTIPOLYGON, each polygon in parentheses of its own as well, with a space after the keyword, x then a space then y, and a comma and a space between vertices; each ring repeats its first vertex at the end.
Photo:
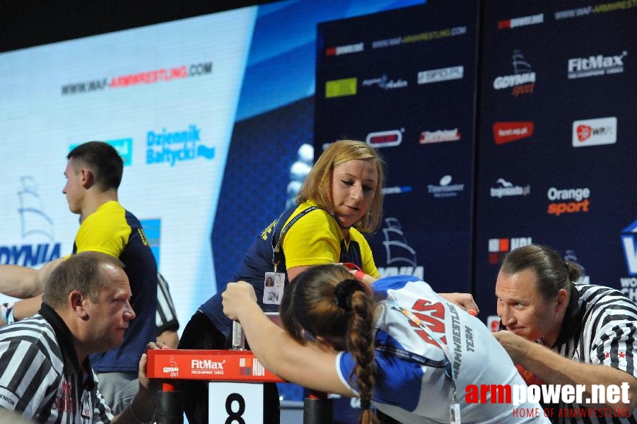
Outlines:
MULTIPOLYGON (((197 311, 186 324, 179 341, 180 349, 229 349, 230 341, 197 311)), ((249 348, 246 345, 246 348, 249 348)), ((274 383, 263 385, 264 424, 279 424, 279 389, 274 383)), ((189 424, 208 424, 208 383, 201 380, 180 380, 177 389, 185 395, 185 413, 189 424)))

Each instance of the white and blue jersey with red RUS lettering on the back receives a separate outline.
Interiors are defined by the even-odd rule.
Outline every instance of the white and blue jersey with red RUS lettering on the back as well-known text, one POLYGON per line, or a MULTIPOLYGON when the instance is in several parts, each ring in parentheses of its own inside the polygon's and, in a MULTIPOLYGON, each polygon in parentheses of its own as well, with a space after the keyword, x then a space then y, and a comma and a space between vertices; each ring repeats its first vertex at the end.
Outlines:
MULTIPOLYGON (((450 305, 425 282, 413 276, 376 281, 372 289, 382 314, 375 323, 377 367, 373 392, 375 406, 404 424, 449 423, 452 379, 462 423, 548 423, 538 403, 518 406, 491 399, 492 389, 526 387, 513 362, 491 331, 476 317, 450 305), (426 329, 401 309, 414 314, 426 329), (448 348, 448 355, 438 345, 448 348), (449 357, 448 357, 449 356, 449 357), (481 385, 485 385, 482 387, 481 385), (481 389, 479 401, 467 399, 467 387, 481 389)), ((340 353, 337 371, 347 387, 354 361, 340 353)))

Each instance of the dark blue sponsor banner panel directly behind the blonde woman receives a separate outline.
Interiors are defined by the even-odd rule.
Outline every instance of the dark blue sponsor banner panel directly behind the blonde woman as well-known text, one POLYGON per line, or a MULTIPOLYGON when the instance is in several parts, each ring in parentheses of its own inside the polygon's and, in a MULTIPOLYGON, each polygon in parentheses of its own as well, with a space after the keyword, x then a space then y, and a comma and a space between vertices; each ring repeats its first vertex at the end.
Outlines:
POLYGON ((476 22, 476 1, 453 1, 318 27, 315 155, 344 138, 378 148, 375 263, 440 291, 471 288, 476 22))

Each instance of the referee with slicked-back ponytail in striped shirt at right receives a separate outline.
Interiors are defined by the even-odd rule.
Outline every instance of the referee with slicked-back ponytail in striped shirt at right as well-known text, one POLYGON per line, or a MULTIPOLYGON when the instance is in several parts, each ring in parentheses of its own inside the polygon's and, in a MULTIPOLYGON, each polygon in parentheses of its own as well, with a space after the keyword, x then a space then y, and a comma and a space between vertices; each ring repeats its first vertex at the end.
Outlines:
MULTIPOLYGON (((516 365, 545 384, 626 387, 629 402, 545 404, 554 423, 637 423, 637 305, 618 290, 580 285, 578 264, 549 247, 530 245, 505 258, 496 298, 495 333, 516 365)), ((584 387, 584 386, 582 386, 584 387)))

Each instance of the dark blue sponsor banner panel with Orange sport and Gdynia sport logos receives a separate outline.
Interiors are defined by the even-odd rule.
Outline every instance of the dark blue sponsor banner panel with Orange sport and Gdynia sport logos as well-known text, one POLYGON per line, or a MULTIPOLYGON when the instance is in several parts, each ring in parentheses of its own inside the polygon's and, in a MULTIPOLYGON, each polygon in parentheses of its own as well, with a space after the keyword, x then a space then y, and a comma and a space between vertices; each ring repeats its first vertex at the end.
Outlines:
POLYGON ((484 2, 474 294, 531 242, 637 300, 637 5, 484 2))

